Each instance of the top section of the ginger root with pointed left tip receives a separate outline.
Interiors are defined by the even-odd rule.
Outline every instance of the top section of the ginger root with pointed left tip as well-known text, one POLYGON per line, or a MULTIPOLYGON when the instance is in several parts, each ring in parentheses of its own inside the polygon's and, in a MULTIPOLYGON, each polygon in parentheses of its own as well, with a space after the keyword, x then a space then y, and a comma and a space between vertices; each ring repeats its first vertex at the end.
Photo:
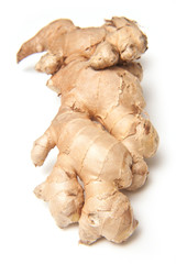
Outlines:
MULTIPOLYGON (((21 46, 16 61, 47 51, 56 57, 56 69, 72 55, 86 57, 89 66, 100 69, 138 59, 146 48, 144 33, 134 21, 125 18, 114 16, 100 28, 87 29, 75 26, 70 20, 56 20, 21 46)), ((40 70, 45 72, 43 67, 40 70)), ((50 74, 54 73, 55 69, 50 74)))

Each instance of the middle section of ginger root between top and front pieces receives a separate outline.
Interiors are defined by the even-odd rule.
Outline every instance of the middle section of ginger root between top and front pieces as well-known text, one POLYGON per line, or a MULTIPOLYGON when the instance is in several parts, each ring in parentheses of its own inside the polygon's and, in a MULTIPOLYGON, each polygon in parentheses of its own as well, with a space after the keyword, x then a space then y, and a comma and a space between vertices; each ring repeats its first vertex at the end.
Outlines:
POLYGON ((131 63, 127 68, 94 70, 87 67, 86 59, 77 58, 53 75, 47 85, 62 95, 62 106, 87 112, 127 146, 135 161, 135 185, 129 189, 135 190, 147 178, 144 158, 155 154, 158 135, 150 120, 142 116, 145 101, 136 77, 141 78, 141 67, 131 63))

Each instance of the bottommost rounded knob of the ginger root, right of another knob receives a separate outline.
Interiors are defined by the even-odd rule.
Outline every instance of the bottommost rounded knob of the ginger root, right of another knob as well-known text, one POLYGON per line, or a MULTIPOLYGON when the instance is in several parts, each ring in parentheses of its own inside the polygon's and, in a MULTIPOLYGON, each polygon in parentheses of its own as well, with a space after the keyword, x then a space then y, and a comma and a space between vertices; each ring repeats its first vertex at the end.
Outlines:
MULTIPOLYGON (((130 201, 112 187, 110 191, 107 188, 108 183, 97 183, 97 194, 94 196, 89 196, 87 190, 88 197, 79 219, 80 242, 92 244, 103 237, 114 243, 121 243, 134 232, 138 226, 138 221, 133 219, 130 201), (98 187, 102 184, 106 187, 100 194, 98 187)), ((91 186, 88 189, 91 193, 91 186)))

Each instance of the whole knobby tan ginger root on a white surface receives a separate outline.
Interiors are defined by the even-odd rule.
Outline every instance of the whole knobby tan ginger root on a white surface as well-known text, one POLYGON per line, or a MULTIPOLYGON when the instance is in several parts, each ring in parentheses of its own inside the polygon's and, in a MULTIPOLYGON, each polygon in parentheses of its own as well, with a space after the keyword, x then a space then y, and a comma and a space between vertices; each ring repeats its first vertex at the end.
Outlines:
POLYGON ((158 145, 157 132, 144 114, 142 67, 133 62, 146 48, 138 24, 114 16, 88 29, 54 21, 18 53, 20 62, 47 51, 36 69, 52 74, 47 86, 62 96, 57 116, 32 150, 35 166, 54 146, 59 150, 53 172, 34 193, 48 202, 58 227, 79 222, 85 244, 101 237, 121 243, 138 226, 120 190, 144 185, 144 158, 158 145))

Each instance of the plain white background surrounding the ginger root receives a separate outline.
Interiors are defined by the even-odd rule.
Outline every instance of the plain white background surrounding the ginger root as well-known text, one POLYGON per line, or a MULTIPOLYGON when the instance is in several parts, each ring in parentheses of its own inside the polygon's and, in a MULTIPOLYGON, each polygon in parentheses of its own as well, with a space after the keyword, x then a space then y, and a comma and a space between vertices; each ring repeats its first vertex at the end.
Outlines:
POLYGON ((0 263, 176 263, 176 2, 167 1, 3 1, 0 7, 0 263), (20 65, 21 44, 58 18, 76 25, 101 25, 124 15, 148 36, 141 63, 146 110, 158 131, 150 179, 130 194, 139 228, 128 242, 78 244, 78 227, 61 230, 47 206, 33 195, 54 165, 54 150, 41 168, 30 158, 33 141, 54 118, 59 99, 46 88, 48 76, 34 70, 41 55, 20 65))

